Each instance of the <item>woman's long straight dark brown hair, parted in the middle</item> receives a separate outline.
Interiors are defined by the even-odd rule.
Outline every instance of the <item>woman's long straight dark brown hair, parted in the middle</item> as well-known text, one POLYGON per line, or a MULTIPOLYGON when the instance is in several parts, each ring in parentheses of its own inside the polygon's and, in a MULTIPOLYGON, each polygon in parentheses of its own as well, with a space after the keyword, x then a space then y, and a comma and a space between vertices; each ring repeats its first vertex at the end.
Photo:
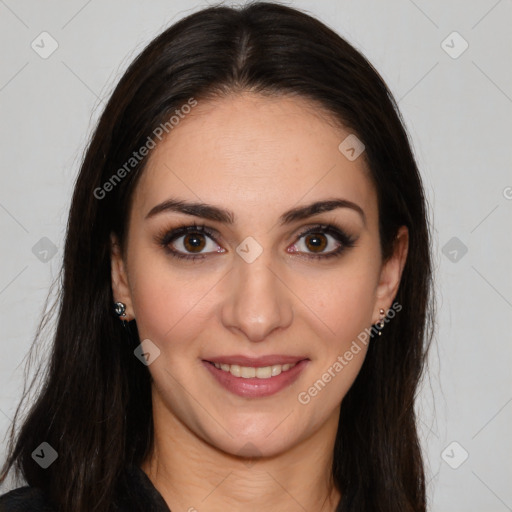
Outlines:
POLYGON ((190 98, 243 90, 307 98, 356 133, 377 190, 384 258, 397 229, 409 229, 395 298, 402 311, 370 343, 343 399, 332 471, 343 511, 424 512, 414 402, 433 308, 421 178, 397 105, 372 65, 318 20, 274 3, 216 6, 187 16, 144 49, 110 97, 74 188, 48 368, 21 422, 18 408, 21 424, 13 426, 2 479, 14 468, 58 510, 107 511, 122 469, 148 455, 150 374, 133 355, 135 321, 130 335, 112 313, 109 238, 114 232, 125 240, 147 157, 105 197, 95 191, 190 98), (41 442, 58 452, 48 469, 31 457, 41 442))

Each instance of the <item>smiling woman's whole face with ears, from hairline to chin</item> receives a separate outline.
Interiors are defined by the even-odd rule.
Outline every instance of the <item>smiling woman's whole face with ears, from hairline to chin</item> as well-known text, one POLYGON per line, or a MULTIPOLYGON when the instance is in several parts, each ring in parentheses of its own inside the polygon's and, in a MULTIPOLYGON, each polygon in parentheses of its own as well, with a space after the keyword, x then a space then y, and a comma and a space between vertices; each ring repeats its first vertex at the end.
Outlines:
POLYGON ((402 230, 382 262, 364 157, 339 149, 349 135, 300 98, 245 93, 199 102, 152 150, 112 277, 151 342, 161 422, 248 456, 335 432, 407 245, 402 230))

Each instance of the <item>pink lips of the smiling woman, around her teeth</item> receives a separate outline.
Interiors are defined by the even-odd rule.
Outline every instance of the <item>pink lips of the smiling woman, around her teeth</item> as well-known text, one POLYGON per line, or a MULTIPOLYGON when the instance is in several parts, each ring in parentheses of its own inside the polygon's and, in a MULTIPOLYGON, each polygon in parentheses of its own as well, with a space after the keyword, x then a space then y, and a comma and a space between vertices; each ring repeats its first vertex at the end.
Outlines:
MULTIPOLYGON (((244 363, 241 366, 271 366, 271 364, 264 363, 263 365, 259 362, 264 361, 265 358, 257 358, 257 359, 251 359, 251 358, 240 358, 238 356, 232 356, 233 360, 236 359, 237 361, 250 361, 251 364, 244 363), (258 364, 255 363, 255 361, 258 361, 258 364)), ((276 359, 276 356, 268 356, 266 360, 270 360, 270 358, 273 358, 274 361, 285 361, 282 364, 287 364, 286 358, 283 357, 281 359, 276 359)), ((215 358, 217 359, 217 358, 215 358)), ((228 363, 228 358, 222 359, 222 361, 226 364, 238 364, 236 362, 234 363, 228 363)), ((296 362, 297 364, 290 368, 289 370, 285 372, 281 372, 279 375, 276 375, 275 377, 270 377, 268 379, 258 379, 257 377, 251 377, 249 379, 244 379, 243 377, 235 377, 234 375, 231 375, 230 372, 225 372, 224 370, 221 370, 219 368, 216 368, 212 363, 213 362, 221 362, 220 358, 217 361, 206 361, 203 360, 202 363, 204 367, 211 373, 211 375, 214 377, 214 379, 225 389, 230 391, 231 393, 244 397, 244 398, 263 398, 267 396, 274 395, 281 391, 282 389, 292 385, 299 377, 299 375, 302 373, 302 371, 308 366, 310 363, 309 359, 305 358, 291 358, 288 356, 288 359, 293 359, 288 364, 293 364, 293 362, 296 362)), ((276 362, 274 364, 281 364, 279 362, 276 362)))

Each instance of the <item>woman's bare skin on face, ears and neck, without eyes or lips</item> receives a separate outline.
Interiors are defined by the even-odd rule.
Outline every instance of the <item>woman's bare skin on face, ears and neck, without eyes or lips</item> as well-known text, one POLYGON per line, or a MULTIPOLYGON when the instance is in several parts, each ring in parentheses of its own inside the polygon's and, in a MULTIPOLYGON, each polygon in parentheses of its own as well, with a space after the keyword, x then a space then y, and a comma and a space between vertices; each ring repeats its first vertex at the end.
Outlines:
MULTIPOLYGON (((148 366, 155 443, 142 468, 173 512, 325 512, 339 502, 330 473, 340 404, 367 347, 360 344, 307 405, 297 397, 379 320, 380 308, 391 307, 408 245, 402 227, 393 256, 382 261, 364 157, 351 162, 338 150, 350 133, 297 97, 247 92, 200 102, 152 151, 134 192, 124 254, 112 236, 115 300, 126 304, 127 320, 136 318, 141 340, 160 350, 148 366), (229 209, 235 222, 172 211, 145 218, 170 197, 229 209), (291 208, 333 198, 356 203, 365 218, 337 208, 278 223, 291 208), (217 241, 201 239, 204 259, 173 258, 155 241, 181 222, 217 230, 217 241), (316 223, 339 226, 354 246, 339 257, 307 259, 315 246, 298 235, 316 223), (263 249, 252 263, 236 252, 249 236, 263 249), (310 361, 277 394, 244 398, 203 366, 226 354, 310 361)), ((317 251, 328 253, 338 242, 323 233, 328 245, 317 251)), ((187 254, 184 238, 171 245, 187 254)))

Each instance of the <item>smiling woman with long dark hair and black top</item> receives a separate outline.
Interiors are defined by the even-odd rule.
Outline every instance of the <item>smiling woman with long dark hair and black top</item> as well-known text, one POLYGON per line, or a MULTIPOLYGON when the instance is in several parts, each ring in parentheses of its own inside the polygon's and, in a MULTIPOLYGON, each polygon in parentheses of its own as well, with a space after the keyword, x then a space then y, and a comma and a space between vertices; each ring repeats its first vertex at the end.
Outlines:
POLYGON ((421 179, 386 85, 289 7, 158 36, 86 152, 1 510, 425 511, 421 179))

